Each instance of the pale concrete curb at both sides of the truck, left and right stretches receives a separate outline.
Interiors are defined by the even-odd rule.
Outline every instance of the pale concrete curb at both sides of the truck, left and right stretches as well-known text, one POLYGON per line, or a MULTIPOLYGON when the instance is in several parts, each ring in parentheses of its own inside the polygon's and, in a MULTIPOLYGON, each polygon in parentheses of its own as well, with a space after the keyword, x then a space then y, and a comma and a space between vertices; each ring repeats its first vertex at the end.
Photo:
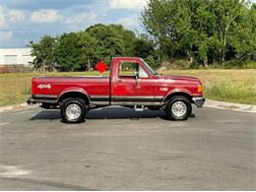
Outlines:
MULTIPOLYGON (((36 106, 38 106, 38 104, 29 105, 26 102, 23 102, 20 104, 14 104, 14 105, 1 106, 0 113, 5 111, 17 110, 17 109, 33 108, 36 106)), ((226 110, 256 113, 256 105, 252 105, 252 104, 240 104, 240 103, 206 99, 204 106, 210 107, 210 108, 220 108, 220 109, 226 109, 226 110)))

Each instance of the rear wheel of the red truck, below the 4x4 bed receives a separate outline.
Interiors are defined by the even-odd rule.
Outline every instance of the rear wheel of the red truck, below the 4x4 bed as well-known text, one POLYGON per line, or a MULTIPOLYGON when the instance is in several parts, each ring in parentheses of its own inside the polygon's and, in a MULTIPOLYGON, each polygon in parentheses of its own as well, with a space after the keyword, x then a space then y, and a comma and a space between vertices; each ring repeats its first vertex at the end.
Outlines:
POLYGON ((61 116, 62 116, 62 120, 65 123, 71 124, 71 123, 84 122, 86 115, 87 115, 87 106, 84 99, 67 98, 62 101, 61 116), (72 111, 72 107, 73 107, 73 111, 72 111), (74 118, 72 118, 71 116, 73 116, 74 118))

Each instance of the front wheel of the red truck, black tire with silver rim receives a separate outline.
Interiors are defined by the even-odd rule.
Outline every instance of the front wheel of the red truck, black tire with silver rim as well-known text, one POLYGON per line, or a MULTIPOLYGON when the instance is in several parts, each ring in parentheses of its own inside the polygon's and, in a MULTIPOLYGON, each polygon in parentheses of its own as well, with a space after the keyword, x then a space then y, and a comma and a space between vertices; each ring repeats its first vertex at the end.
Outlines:
POLYGON ((173 96, 169 99, 168 103, 164 108, 164 111, 166 112, 169 119, 174 121, 183 121, 190 116, 192 112, 192 105, 190 100, 186 96, 173 96), (181 105, 182 109, 180 109, 180 115, 177 115, 177 113, 179 113, 179 110, 175 112, 175 105, 173 106, 173 104, 181 105))

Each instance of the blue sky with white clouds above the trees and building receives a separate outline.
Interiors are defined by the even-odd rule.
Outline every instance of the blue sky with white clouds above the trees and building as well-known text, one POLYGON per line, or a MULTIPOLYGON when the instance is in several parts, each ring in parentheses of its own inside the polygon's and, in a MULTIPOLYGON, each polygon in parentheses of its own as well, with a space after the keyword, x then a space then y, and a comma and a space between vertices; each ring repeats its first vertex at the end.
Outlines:
POLYGON ((143 31, 147 0, 0 0, 0 48, 26 47, 44 34, 84 31, 97 23, 143 31))

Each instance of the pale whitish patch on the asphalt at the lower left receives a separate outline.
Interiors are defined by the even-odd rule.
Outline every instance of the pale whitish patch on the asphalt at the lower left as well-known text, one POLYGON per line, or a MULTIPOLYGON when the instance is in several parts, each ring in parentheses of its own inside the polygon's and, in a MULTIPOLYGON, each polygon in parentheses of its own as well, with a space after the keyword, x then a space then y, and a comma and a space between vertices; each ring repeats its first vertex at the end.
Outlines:
POLYGON ((0 165, 0 176, 13 177, 29 174, 31 171, 13 165, 0 165))

